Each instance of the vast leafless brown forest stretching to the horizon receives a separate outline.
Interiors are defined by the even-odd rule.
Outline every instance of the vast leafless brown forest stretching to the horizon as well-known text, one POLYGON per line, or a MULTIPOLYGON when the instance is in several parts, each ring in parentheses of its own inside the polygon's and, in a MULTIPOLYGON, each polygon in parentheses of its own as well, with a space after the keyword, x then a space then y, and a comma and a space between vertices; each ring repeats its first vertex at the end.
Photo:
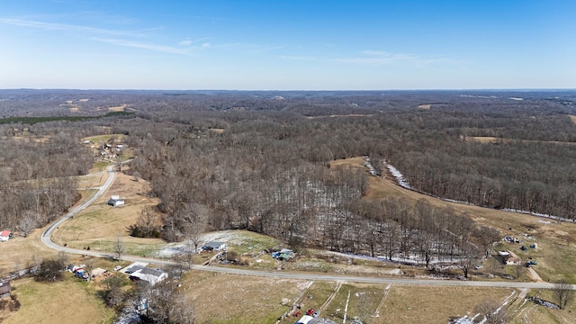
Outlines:
POLYGON ((4 227, 26 228, 27 217, 40 226, 75 202, 67 176, 92 166, 81 142, 102 133, 127 135, 134 158, 124 172, 150 181, 169 241, 249 229, 295 247, 416 255, 427 266, 456 258, 465 268, 498 238, 426 202, 363 199, 371 175, 329 167, 349 157, 366 157, 378 176, 385 161, 422 193, 576 219, 573 91, 6 90, 0 112, 100 117, 0 125, 4 227), (122 105, 133 113, 106 116, 122 105))

